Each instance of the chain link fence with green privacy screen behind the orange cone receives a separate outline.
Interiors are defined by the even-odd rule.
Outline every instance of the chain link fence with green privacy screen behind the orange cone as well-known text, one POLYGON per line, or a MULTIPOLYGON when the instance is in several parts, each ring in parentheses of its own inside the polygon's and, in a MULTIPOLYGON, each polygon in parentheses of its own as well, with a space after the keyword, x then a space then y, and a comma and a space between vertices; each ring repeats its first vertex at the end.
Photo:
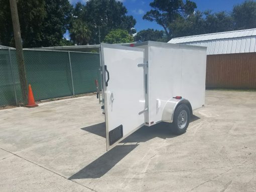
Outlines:
MULTIPOLYGON (((28 83, 36 101, 96 91, 98 53, 24 50, 28 83)), ((22 103, 16 50, 0 49, 0 106, 22 103)))

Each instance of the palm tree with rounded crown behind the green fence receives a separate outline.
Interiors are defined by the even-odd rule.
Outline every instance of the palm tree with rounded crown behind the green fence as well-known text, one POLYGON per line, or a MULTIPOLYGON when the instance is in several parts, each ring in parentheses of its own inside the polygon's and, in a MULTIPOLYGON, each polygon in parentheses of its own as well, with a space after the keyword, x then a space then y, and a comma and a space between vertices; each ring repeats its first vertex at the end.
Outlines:
POLYGON ((91 32, 88 26, 79 19, 74 20, 70 29, 70 40, 77 45, 89 43, 91 32))

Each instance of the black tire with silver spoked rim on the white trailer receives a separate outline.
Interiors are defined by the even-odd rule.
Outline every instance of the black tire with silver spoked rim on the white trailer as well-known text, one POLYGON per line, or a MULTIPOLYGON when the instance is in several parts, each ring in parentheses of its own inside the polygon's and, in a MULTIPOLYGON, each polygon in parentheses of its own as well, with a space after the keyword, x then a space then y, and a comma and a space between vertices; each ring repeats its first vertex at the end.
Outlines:
POLYGON ((181 104, 174 111, 172 131, 181 135, 186 132, 190 122, 190 111, 187 105, 181 104))

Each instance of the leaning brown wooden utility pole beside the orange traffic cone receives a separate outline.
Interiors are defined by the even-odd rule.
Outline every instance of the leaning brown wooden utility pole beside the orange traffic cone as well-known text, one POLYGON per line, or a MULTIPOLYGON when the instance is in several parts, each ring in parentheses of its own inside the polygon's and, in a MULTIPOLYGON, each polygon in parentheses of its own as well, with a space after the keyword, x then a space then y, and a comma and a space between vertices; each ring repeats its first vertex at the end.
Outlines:
POLYGON ((23 104, 26 105, 28 102, 28 83, 27 83, 26 70, 24 65, 21 30, 20 30, 20 22, 19 22, 16 0, 10 0, 10 8, 11 8, 11 14, 12 14, 12 20, 13 20, 14 39, 15 39, 15 46, 16 46, 19 76, 20 76, 20 82, 21 82, 23 104))

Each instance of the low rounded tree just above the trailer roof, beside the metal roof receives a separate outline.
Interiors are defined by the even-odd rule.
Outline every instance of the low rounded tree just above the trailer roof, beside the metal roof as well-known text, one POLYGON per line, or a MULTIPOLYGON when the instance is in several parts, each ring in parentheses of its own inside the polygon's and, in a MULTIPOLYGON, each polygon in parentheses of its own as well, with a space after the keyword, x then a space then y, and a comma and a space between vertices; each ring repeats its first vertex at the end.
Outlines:
POLYGON ((154 29, 142 30, 136 34, 134 37, 136 42, 144 42, 144 41, 161 41, 166 42, 166 38, 164 36, 164 31, 158 31, 154 29))

